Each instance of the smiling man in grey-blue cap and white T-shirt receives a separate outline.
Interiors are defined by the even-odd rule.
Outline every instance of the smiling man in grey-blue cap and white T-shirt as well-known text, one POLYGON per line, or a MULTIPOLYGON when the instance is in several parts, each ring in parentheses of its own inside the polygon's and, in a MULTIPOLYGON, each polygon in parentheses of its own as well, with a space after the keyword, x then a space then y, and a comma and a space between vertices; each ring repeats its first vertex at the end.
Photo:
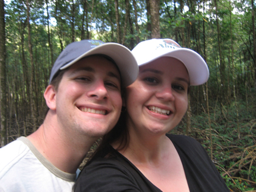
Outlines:
POLYGON ((121 89, 137 74, 136 60, 121 44, 69 44, 44 91, 43 124, 0 149, 0 191, 71 191, 91 145, 117 123, 121 89))

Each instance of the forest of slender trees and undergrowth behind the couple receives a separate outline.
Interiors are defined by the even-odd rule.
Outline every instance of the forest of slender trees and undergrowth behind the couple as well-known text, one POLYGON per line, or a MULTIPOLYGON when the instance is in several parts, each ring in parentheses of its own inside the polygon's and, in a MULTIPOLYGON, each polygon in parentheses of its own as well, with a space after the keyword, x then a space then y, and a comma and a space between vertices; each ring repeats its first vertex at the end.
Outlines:
POLYGON ((132 49, 172 38, 210 69, 172 133, 196 138, 230 191, 256 191, 255 13, 253 0, 0 0, 0 146, 42 123, 43 92, 67 44, 98 39, 132 49))

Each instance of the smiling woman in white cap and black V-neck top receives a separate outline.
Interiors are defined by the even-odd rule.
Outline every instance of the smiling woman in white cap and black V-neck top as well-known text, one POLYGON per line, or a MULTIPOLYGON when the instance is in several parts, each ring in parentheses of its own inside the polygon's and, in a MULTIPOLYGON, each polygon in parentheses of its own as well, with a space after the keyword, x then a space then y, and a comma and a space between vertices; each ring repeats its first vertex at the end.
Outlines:
POLYGON ((132 52, 140 73, 126 88, 127 110, 74 191, 229 191, 201 144, 166 134, 187 111, 190 85, 208 80, 202 57, 169 39, 143 41, 132 52))

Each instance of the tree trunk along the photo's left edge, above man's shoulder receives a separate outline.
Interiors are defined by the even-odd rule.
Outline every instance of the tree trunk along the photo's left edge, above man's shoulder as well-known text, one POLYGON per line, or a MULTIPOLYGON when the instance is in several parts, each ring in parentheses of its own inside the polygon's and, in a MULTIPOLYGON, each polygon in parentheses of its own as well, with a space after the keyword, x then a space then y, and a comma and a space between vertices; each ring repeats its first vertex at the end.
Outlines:
POLYGON ((1 141, 0 146, 7 144, 7 85, 6 85, 6 51, 5 51, 5 20, 4 20, 4 0, 0 0, 0 79, 1 79, 1 141))

